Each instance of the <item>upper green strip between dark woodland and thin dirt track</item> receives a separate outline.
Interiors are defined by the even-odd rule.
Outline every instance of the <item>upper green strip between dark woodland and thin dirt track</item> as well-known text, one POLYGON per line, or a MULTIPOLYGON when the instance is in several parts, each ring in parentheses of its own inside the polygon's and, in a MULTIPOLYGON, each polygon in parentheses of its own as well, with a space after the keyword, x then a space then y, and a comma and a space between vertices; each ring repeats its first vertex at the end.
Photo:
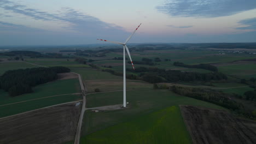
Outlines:
MULTIPOLYGON (((16 103, 30 99, 44 98, 52 95, 79 93, 80 85, 78 79, 56 80, 44 83, 33 88, 33 93, 9 97, 7 92, 0 90, 0 105, 16 103)), ((58 99, 62 97, 57 97, 58 99)))

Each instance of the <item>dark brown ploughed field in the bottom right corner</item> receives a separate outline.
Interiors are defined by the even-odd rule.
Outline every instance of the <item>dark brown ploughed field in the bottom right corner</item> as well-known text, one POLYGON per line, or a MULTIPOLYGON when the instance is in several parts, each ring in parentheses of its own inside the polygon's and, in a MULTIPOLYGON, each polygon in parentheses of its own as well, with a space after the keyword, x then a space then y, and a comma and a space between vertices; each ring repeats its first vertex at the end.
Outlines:
POLYGON ((181 105, 182 116, 194 143, 254 143, 256 122, 238 119, 224 110, 181 105))

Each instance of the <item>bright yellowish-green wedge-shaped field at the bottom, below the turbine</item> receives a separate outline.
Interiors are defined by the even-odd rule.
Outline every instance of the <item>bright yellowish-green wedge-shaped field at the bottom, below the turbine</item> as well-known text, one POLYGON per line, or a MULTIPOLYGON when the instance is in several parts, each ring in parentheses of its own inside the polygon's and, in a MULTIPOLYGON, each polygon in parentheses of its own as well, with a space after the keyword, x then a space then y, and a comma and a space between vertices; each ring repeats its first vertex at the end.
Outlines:
POLYGON ((192 143, 178 106, 83 137, 81 143, 192 143))

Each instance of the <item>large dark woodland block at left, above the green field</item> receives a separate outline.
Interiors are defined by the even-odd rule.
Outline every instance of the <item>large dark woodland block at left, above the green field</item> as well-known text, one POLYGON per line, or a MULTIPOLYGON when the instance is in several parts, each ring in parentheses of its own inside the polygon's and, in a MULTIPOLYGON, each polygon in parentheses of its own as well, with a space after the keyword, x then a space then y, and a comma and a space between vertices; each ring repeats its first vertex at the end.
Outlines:
POLYGON ((0 77, 0 88, 11 97, 31 93, 32 87, 57 79, 58 73, 68 73, 66 67, 8 70, 0 77))

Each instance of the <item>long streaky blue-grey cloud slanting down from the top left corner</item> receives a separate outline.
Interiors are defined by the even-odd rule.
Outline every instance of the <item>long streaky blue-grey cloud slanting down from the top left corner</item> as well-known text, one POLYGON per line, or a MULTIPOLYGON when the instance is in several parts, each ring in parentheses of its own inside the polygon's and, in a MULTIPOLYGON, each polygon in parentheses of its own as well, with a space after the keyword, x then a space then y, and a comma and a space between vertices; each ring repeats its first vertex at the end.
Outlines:
POLYGON ((103 22, 97 17, 81 13, 72 8, 62 8, 58 13, 53 14, 38 9, 27 8, 26 5, 17 4, 8 0, 1 0, 0 8, 31 17, 34 20, 68 22, 70 25, 63 28, 77 31, 80 34, 126 33, 122 27, 103 22))

